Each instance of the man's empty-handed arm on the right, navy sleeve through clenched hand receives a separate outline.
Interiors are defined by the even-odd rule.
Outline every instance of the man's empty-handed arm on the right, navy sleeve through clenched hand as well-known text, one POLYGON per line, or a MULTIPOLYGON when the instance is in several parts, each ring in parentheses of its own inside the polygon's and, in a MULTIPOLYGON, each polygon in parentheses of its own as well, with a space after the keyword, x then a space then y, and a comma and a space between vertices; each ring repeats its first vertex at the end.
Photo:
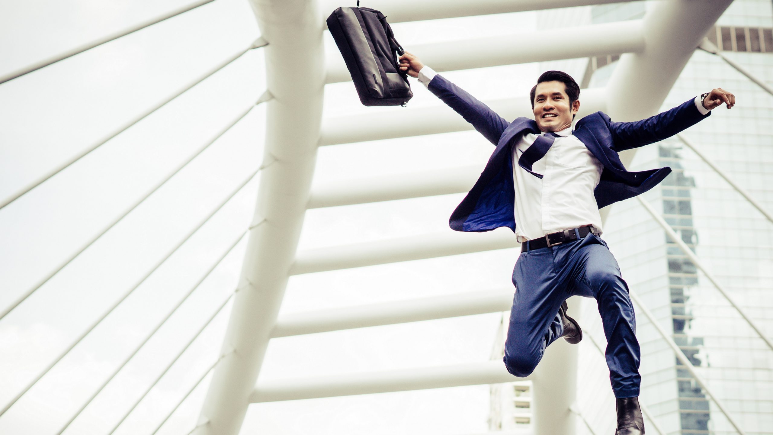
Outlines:
POLYGON ((637 148, 667 139, 695 125, 710 115, 713 108, 722 103, 727 108, 735 105, 735 95, 721 87, 685 101, 678 107, 636 122, 610 122, 615 151, 637 148))

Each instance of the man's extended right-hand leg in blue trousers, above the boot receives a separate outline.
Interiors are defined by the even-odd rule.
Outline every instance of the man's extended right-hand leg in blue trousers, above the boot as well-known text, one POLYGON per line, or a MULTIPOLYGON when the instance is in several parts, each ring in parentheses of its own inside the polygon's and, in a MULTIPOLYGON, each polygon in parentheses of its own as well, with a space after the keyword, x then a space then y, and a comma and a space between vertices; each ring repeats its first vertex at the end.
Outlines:
POLYGON ((618 262, 605 245, 586 241, 571 255, 570 263, 576 294, 594 297, 598 302, 615 397, 638 396, 642 378, 638 374, 640 351, 635 314, 618 262))

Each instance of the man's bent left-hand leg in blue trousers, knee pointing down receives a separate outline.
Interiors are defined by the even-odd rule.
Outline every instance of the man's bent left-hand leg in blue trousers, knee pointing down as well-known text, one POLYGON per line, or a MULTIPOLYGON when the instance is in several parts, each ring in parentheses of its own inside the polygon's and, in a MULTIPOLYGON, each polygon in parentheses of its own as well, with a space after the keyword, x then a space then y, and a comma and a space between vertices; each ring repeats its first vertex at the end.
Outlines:
POLYGON ((550 249, 521 253, 512 283, 516 295, 510 310, 504 361, 508 372, 523 378, 534 371, 547 345, 563 334, 557 313, 569 295, 558 281, 550 249))

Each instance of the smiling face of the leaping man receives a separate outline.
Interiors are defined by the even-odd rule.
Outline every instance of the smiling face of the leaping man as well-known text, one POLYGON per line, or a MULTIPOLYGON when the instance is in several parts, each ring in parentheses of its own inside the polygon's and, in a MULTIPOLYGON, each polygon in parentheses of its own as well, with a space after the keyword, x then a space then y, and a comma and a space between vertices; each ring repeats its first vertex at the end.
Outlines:
POLYGON ((572 125, 580 101, 569 105, 567 87, 560 81, 543 81, 534 92, 534 120, 543 132, 560 132, 572 125))

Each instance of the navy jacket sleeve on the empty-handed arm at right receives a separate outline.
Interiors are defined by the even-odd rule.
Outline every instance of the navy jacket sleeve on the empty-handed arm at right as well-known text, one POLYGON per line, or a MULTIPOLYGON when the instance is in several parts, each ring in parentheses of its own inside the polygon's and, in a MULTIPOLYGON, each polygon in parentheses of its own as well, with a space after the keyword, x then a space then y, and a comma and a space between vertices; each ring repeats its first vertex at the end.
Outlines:
MULTIPOLYGON (((701 115, 695 107, 693 98, 679 104, 676 108, 659 113, 651 118, 636 122, 611 122, 612 148, 617 152, 638 148, 676 135, 676 133, 695 125, 711 115, 701 115)), ((604 115, 608 119, 608 116, 604 115)))

